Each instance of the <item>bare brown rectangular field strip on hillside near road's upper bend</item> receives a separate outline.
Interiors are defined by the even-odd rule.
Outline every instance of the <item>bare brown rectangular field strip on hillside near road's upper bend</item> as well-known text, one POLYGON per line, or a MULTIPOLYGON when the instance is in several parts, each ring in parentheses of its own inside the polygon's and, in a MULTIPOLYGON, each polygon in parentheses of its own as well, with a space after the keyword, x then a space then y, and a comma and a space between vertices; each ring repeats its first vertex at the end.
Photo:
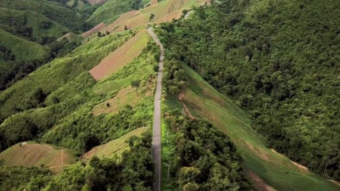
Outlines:
POLYGON ((89 73, 97 81, 110 76, 113 72, 138 57, 147 46, 148 39, 149 35, 145 29, 142 29, 122 46, 105 57, 98 65, 93 67, 89 73))

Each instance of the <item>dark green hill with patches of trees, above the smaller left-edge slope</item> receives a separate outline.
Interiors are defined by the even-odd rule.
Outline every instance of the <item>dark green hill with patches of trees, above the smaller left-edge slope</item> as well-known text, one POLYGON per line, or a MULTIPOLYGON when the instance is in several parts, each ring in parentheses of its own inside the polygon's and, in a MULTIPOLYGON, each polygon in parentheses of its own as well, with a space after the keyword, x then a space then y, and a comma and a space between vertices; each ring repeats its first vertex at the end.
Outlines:
POLYGON ((0 8, 0 23, 3 30, 39 44, 49 44, 69 32, 61 24, 30 10, 0 8))

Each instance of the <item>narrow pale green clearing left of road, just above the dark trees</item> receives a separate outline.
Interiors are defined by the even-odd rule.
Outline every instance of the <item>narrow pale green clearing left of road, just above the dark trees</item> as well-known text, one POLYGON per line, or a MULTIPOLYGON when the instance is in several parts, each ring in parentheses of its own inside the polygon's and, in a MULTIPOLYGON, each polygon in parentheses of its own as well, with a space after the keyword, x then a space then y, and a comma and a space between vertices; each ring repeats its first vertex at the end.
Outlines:
POLYGON ((127 134, 121 136, 120 138, 111 140, 106 144, 102 144, 92 148, 90 151, 86 152, 83 155, 83 160, 87 161, 92 158, 92 156, 96 155, 99 158, 102 157, 110 157, 116 153, 120 153, 126 149, 128 149, 128 144, 125 142, 131 136, 136 135, 140 136, 143 132, 145 132, 147 127, 140 127, 135 130, 128 132, 127 134))

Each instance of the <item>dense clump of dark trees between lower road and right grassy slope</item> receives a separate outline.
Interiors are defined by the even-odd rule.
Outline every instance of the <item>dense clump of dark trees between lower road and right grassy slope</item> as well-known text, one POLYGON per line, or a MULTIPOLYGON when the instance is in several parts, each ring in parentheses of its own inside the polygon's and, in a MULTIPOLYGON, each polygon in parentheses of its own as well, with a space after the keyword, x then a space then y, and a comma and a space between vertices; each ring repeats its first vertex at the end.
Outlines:
POLYGON ((166 190, 254 190, 243 158, 227 135, 205 120, 183 117, 179 109, 167 110, 165 123, 171 142, 171 156, 163 159, 170 170, 166 190))

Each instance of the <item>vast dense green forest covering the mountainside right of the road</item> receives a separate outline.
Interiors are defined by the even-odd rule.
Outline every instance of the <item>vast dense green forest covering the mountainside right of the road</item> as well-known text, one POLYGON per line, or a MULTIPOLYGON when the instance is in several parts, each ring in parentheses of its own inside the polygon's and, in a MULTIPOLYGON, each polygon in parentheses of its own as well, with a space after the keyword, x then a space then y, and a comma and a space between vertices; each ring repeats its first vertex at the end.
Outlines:
POLYGON ((340 180, 340 1, 220 0, 194 11, 158 30, 173 63, 168 90, 185 84, 178 63, 189 65, 247 111, 268 147, 340 180))

